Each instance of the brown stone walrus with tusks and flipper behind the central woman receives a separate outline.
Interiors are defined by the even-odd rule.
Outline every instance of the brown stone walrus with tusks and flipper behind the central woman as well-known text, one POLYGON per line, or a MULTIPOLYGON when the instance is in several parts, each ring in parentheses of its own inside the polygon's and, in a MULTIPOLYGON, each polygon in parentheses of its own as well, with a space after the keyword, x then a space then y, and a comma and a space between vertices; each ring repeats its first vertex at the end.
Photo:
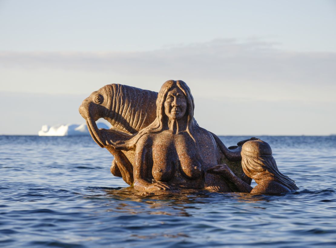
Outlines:
MULTIPOLYGON (((96 121, 103 118, 112 125, 110 130, 116 134, 131 135, 147 127, 156 118, 156 98, 158 93, 143 90, 122 84, 108 84, 94 91, 79 107, 79 113, 86 120, 88 130, 93 140, 102 148, 106 148, 114 157, 111 172, 114 176, 122 177, 124 181, 133 184, 134 150, 119 151, 110 144, 103 142, 102 132, 96 121)), ((196 120, 194 119, 197 124, 196 120)), ((214 135, 214 134, 213 134, 214 135)), ((215 138, 216 139, 216 138, 215 138)), ((217 137, 219 140, 219 138, 217 137)), ((217 144, 218 141, 216 140, 217 144)), ((240 161, 228 161, 222 155, 222 161, 241 176, 242 166, 240 161)))

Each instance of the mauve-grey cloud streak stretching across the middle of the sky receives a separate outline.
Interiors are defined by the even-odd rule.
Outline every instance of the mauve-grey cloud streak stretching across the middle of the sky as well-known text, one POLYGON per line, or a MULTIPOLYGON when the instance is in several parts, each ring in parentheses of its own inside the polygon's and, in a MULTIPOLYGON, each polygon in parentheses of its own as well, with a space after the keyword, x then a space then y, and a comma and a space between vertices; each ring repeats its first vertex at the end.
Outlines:
POLYGON ((0 52, 0 67, 137 74, 203 80, 333 85, 336 53, 293 52, 271 43, 218 39, 147 52, 0 52))

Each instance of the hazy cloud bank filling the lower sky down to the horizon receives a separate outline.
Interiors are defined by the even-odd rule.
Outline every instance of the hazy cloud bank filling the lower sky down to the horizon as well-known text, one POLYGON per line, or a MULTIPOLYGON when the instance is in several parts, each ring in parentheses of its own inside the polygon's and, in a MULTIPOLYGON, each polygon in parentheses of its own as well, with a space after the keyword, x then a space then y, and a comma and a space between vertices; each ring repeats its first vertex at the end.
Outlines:
POLYGON ((165 80, 182 79, 193 92, 195 118, 217 134, 330 134, 335 64, 332 52, 284 51, 270 43, 235 40, 147 52, 3 51, 0 80, 16 93, 0 92, 1 106, 11 102, 4 116, 13 121, 1 129, 37 133, 43 124, 80 123, 81 101, 107 83, 158 91, 165 80), (38 90, 62 95, 32 93, 38 90))

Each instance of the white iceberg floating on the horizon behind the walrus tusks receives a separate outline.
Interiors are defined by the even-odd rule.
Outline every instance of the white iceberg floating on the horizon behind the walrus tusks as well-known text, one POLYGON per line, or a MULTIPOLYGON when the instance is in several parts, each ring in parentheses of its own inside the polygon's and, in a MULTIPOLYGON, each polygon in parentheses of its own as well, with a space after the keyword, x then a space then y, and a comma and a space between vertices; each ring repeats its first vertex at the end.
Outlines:
MULTIPOLYGON (((97 123, 98 128, 109 129, 109 127, 102 122, 97 123)), ((90 135, 89 130, 85 123, 78 124, 67 124, 67 125, 55 125, 48 126, 43 125, 39 131, 39 136, 75 136, 75 135, 90 135)))

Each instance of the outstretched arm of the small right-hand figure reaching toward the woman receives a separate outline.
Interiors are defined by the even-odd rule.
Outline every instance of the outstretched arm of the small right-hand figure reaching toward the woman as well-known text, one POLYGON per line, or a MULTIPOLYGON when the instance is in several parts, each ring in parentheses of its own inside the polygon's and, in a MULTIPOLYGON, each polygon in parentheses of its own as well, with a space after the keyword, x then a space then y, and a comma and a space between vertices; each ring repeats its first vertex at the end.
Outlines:
POLYGON ((207 172, 225 177, 226 179, 234 183, 240 192, 250 193, 253 189, 249 184, 236 176, 235 173, 233 173, 226 164, 216 165, 208 169, 207 172))

